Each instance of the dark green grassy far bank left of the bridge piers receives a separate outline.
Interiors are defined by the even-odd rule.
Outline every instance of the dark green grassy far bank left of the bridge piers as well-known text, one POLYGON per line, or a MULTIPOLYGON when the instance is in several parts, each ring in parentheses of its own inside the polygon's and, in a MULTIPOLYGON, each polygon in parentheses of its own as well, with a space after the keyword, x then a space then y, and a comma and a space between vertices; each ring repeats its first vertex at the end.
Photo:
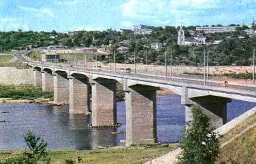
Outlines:
POLYGON ((27 98, 52 98, 51 92, 32 86, 0 85, 0 98, 27 99, 27 98))

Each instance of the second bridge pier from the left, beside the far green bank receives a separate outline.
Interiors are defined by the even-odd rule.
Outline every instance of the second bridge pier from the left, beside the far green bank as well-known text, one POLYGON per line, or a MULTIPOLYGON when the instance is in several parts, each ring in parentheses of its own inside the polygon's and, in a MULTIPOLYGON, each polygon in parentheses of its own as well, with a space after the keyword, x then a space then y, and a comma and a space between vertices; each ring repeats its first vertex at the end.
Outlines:
POLYGON ((53 75, 51 71, 42 72, 42 89, 43 91, 53 92, 53 75))

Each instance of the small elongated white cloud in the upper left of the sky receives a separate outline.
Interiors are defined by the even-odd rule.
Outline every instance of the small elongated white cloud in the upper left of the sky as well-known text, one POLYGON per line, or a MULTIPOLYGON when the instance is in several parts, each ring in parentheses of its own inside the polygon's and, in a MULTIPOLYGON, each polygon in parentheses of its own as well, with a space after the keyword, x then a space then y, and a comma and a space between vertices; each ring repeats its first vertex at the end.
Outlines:
POLYGON ((18 6, 18 9, 20 10, 24 10, 26 12, 34 12, 34 15, 36 17, 50 17, 50 18, 54 18, 54 13, 53 10, 51 10, 50 8, 40 8, 40 9, 36 9, 33 7, 24 7, 24 6, 18 6))

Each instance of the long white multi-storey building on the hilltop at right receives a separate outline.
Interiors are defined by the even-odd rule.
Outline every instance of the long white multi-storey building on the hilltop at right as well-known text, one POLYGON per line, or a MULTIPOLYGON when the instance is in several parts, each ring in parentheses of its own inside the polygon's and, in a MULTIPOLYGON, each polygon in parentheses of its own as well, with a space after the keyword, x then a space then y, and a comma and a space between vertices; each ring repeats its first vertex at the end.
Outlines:
POLYGON ((236 28, 238 26, 197 27, 196 31, 205 31, 205 33, 230 32, 236 31, 236 28))

